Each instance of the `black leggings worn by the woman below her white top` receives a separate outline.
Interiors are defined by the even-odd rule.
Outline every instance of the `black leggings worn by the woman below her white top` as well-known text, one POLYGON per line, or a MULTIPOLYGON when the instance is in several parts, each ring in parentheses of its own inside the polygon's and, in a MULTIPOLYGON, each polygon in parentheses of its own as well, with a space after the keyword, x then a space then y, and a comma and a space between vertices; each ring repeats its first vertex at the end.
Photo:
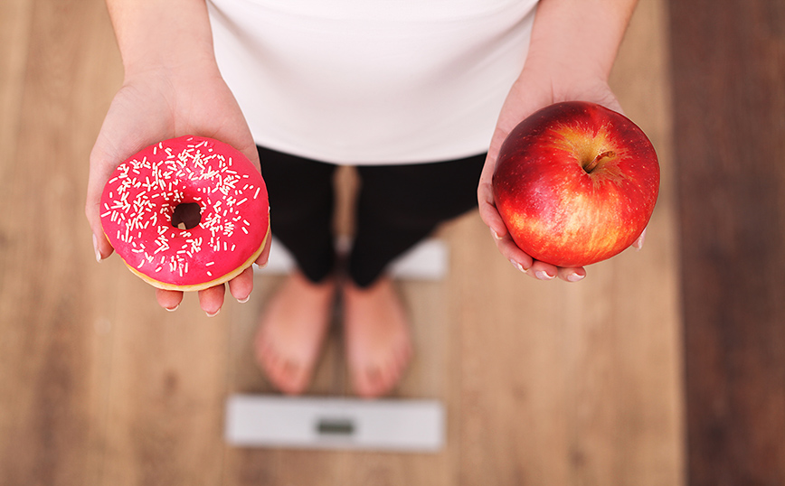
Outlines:
MULTIPOLYGON (((319 282, 336 269, 333 235, 337 166, 258 147, 270 194, 272 232, 303 274, 319 282)), ((477 208, 485 154, 449 162, 360 165, 355 240, 346 272, 374 283, 385 267, 441 222, 477 208)))

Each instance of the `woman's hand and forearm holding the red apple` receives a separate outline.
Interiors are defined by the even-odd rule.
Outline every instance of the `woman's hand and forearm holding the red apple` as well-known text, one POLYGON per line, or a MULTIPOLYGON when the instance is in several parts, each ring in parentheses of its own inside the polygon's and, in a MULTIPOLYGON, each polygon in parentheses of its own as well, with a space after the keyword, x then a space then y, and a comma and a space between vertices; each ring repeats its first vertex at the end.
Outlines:
MULTIPOLYGON (((586 270, 537 261, 515 245, 493 195, 500 147, 519 122, 552 103, 592 101, 621 111, 608 78, 635 4, 636 0, 541 0, 537 5, 525 66, 502 107, 478 185, 479 214, 499 252, 529 276, 577 282, 586 270)), ((643 236, 634 246, 642 244, 643 236)))

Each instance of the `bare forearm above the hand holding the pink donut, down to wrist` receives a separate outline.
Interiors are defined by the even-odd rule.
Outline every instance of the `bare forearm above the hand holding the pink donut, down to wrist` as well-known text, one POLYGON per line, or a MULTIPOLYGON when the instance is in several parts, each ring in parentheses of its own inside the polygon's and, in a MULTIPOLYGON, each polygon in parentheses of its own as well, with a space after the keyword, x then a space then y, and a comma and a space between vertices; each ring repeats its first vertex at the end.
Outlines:
POLYGON ((203 0, 107 0, 126 74, 213 65, 203 0))

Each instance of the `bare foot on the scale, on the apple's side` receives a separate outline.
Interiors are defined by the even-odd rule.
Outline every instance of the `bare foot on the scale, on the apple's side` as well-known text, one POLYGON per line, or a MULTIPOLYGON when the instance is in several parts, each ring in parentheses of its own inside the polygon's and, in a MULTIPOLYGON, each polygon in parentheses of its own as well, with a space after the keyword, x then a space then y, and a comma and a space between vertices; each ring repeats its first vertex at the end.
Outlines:
POLYGON ((389 393, 411 360, 411 332, 389 277, 368 288, 344 285, 346 358, 361 397, 389 393))

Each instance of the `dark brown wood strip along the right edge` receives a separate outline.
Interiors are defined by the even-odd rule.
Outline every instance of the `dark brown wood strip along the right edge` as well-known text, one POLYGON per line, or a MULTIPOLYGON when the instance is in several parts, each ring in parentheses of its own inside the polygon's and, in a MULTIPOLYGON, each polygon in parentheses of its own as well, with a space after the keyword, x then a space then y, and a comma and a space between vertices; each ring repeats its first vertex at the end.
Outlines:
POLYGON ((670 2, 689 483, 785 483, 785 5, 670 2))

